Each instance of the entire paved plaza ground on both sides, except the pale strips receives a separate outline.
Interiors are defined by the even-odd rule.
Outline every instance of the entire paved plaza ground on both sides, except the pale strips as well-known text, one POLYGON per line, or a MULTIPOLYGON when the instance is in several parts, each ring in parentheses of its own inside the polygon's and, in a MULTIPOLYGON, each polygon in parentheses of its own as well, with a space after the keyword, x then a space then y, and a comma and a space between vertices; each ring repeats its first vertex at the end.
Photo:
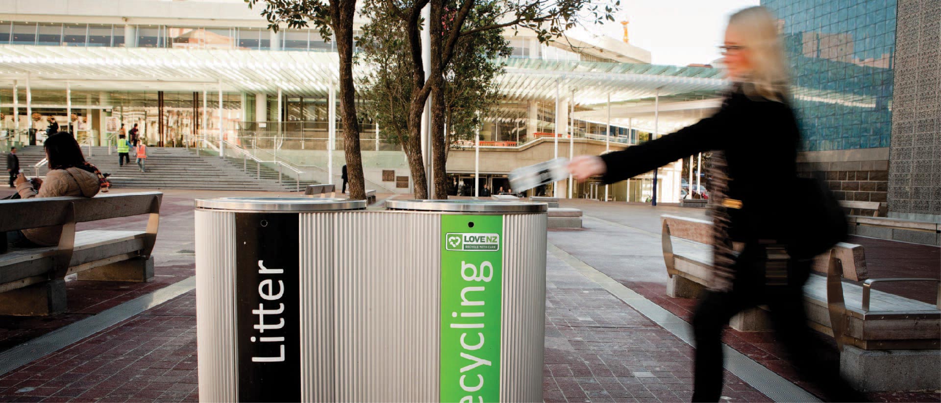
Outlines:
MULTIPOLYGON (((70 282, 69 313, 51 318, 0 317, 0 349, 192 275, 193 198, 218 195, 167 192, 157 242, 155 282, 70 282)), ((551 242, 678 317, 690 319, 694 300, 665 296, 657 217, 663 213, 701 216, 701 210, 563 203, 586 210, 587 229, 550 232, 551 242)), ((119 225, 136 227, 142 222, 128 220, 119 225)), ((870 264, 882 259, 876 270, 893 276, 893 267, 913 271, 904 275, 931 274, 931 259, 937 261, 930 255, 936 254, 937 248, 882 240, 860 242, 867 247, 870 264)), ((679 245, 678 250, 684 247, 679 245)), ((688 401, 693 352, 689 345, 564 262, 549 256, 548 269, 547 401, 688 401)), ((870 271, 874 276, 885 276, 870 271)), ((934 271, 936 275, 936 266, 934 271)), ((195 326, 195 298, 190 292, 5 374, 0 377, 0 401, 196 400, 195 326)), ((776 348, 772 333, 727 330, 725 340, 785 378, 796 380, 776 348)), ((767 401, 767 397, 727 373, 723 395, 728 397, 725 401, 767 401)), ((941 401, 937 393, 870 397, 875 401, 941 401)))

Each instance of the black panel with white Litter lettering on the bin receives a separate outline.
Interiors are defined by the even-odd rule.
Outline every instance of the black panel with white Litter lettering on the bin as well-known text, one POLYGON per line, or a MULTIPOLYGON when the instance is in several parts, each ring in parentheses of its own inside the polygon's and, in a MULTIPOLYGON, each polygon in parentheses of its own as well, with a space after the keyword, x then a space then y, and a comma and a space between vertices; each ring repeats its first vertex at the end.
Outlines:
POLYGON ((300 401, 297 214, 236 213, 239 401, 300 401))

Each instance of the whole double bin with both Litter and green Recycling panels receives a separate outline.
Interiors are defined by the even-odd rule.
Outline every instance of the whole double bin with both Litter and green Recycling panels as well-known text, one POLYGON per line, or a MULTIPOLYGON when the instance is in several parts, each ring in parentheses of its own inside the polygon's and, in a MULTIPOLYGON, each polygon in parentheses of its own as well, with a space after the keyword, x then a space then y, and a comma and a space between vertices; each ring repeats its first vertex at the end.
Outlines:
POLYGON ((198 200, 201 401, 542 401, 546 205, 198 200))

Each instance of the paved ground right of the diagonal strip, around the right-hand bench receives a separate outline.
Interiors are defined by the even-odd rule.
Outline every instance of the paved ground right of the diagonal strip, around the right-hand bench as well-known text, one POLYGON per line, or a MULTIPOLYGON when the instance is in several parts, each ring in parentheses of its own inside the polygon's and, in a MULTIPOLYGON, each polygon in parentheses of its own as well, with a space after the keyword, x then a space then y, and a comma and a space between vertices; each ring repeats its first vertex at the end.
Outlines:
MULTIPOLYGON (((562 201, 564 207, 585 210, 586 228, 582 233, 590 236, 573 237, 568 233, 550 232, 549 240, 567 253, 577 256, 598 271, 611 276, 626 287, 630 287, 651 302, 655 302, 674 315, 692 321, 697 300, 670 298, 666 295, 666 268, 663 265, 661 228, 659 216, 674 214, 693 218, 704 218, 702 209, 681 209, 671 206, 651 208, 649 206, 605 205, 591 201, 562 201)), ((866 248, 869 274, 879 277, 925 277, 939 278, 941 275, 941 248, 890 240, 873 240, 853 237, 850 240, 866 248)), ((676 242, 675 250, 690 252, 694 246, 676 242)), ((910 286, 910 285, 909 285, 910 286)), ((926 295, 924 287, 883 287, 886 292, 897 293, 908 298, 934 302, 936 288, 926 295)), ((827 342, 832 349, 821 351, 830 359, 838 360, 833 339, 814 333, 827 342)), ((821 395, 808 382, 801 380, 794 367, 788 363, 784 351, 777 345, 772 332, 737 332, 726 329, 723 341, 759 364, 772 369, 778 375, 806 390, 821 395)), ((941 401, 939 393, 874 393, 873 401, 941 401)))

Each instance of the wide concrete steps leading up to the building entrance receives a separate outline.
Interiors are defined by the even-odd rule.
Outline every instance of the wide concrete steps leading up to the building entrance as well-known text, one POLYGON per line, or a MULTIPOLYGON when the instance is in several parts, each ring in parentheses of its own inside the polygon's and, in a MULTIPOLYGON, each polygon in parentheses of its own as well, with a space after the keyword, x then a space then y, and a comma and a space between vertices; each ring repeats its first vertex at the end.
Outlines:
MULTIPOLYGON (((146 189, 190 189, 207 191, 261 191, 295 192, 295 180, 284 176, 284 183, 278 183, 278 171, 266 173, 261 180, 255 178, 255 171, 242 170, 242 161, 235 163, 220 160, 218 157, 198 156, 186 148, 148 147, 147 172, 140 172, 131 158, 131 164, 119 166, 118 153, 108 155, 107 147, 82 147, 86 160, 104 172, 111 174, 108 180, 112 188, 146 189), (272 179, 274 178, 274 179, 272 179)), ((20 164, 27 176, 36 175, 33 164, 45 157, 42 147, 24 147, 17 150, 20 164)), ((264 165, 263 169, 265 168, 264 165)), ((40 168, 40 176, 45 176, 47 167, 40 168)), ((303 184, 301 190, 303 191, 303 184)))

